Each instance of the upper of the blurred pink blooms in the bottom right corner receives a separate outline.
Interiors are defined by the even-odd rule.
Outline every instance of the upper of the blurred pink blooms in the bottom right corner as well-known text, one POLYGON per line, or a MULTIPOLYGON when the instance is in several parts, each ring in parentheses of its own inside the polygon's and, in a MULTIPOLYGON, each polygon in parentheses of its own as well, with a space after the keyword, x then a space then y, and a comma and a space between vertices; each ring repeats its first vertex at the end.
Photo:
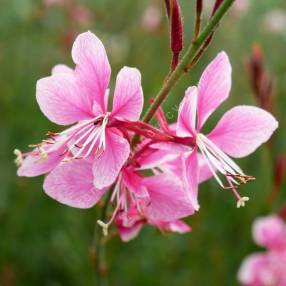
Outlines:
POLYGON ((254 222, 253 238, 261 246, 286 249, 286 225, 276 215, 258 218, 254 222))

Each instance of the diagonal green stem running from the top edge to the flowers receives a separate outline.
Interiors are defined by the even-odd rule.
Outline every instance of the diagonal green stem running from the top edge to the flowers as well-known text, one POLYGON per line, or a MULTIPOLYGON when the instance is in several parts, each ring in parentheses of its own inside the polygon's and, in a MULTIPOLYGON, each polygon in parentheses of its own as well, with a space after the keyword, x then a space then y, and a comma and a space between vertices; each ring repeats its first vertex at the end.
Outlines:
POLYGON ((167 98, 170 90, 176 85, 178 80, 185 73, 186 69, 188 69, 189 64, 193 61, 194 57, 196 56, 197 51, 204 44, 205 40, 209 37, 209 35, 213 32, 213 30, 218 25, 219 21, 228 11, 233 2, 234 0, 224 0, 220 8, 210 19, 209 23, 206 25, 206 27, 198 36, 198 38, 189 46, 182 60, 177 65, 176 69, 170 74, 168 79, 164 82, 161 90, 155 97, 154 103, 147 110, 145 116, 143 117, 144 122, 149 122, 152 119, 158 107, 167 98))

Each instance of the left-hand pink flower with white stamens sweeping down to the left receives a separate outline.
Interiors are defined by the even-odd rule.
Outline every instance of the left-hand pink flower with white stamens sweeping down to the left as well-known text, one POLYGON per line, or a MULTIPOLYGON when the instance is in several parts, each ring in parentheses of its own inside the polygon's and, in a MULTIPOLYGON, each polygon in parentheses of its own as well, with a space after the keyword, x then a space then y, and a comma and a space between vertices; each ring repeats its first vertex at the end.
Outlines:
POLYGON ((112 111, 108 112, 111 69, 103 44, 91 32, 80 34, 73 44, 72 58, 74 70, 58 65, 51 76, 37 82, 36 98, 49 120, 73 126, 61 133, 49 133, 48 140, 23 154, 18 175, 41 175, 61 162, 76 164, 74 159, 96 154, 93 184, 103 189, 115 181, 129 156, 126 134, 118 122, 117 127, 112 124, 139 119, 143 106, 141 75, 135 68, 119 71, 112 111))

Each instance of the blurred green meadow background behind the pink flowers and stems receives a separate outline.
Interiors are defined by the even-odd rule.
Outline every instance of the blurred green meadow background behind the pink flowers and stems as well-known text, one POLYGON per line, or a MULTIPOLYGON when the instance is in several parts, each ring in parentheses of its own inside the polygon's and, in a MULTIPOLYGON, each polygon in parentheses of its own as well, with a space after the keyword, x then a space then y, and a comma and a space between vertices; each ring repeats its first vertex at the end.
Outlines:
MULTIPOLYGON (((172 91, 164 108, 170 111, 170 120, 175 120, 175 107, 184 90, 197 82, 221 50, 231 59, 233 87, 230 100, 212 116, 209 126, 231 106, 256 104, 245 61, 252 44, 261 44, 275 81, 280 129, 272 149, 263 146, 238 160, 247 174, 257 178, 241 188, 250 202, 236 209, 233 196, 220 190, 216 182, 203 184, 201 209, 187 220, 192 233, 161 235, 147 226, 127 244, 118 237, 108 244, 110 285, 236 285, 241 260, 256 249, 251 238, 253 219, 277 211, 285 201, 283 186, 272 204, 268 198, 273 160, 285 152, 286 142, 286 3, 237 1, 249 5, 232 8, 207 53, 172 91)), ((78 210, 51 200, 42 191, 43 177, 18 178, 13 149, 27 150, 28 144, 39 142, 48 130, 60 130, 41 114, 35 83, 53 65, 71 64, 73 39, 86 30, 104 42, 112 65, 112 86, 123 65, 141 70, 147 107, 170 62, 161 2, 0 0, 0 285, 95 284, 90 247, 96 209, 78 210)), ((194 2, 180 1, 185 46, 191 41, 194 2)), ((211 5, 213 1, 206 2, 211 5)), ((206 5, 205 20, 208 14, 206 5)))

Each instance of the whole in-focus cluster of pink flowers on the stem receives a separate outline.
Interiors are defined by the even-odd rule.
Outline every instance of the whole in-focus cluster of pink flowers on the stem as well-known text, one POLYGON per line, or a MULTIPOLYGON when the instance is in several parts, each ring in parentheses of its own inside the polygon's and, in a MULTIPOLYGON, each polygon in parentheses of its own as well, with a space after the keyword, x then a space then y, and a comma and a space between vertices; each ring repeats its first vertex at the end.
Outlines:
POLYGON ((108 111, 111 68, 94 34, 77 37, 72 58, 75 69, 55 66, 36 89, 44 115, 72 127, 49 132, 31 152, 15 150, 19 176, 48 174, 46 194, 72 207, 92 207, 106 194, 113 214, 98 223, 104 233, 114 223, 124 241, 145 223, 162 231, 190 231, 180 219, 199 210, 198 185, 210 177, 233 192, 237 207, 244 206, 248 197, 241 197, 237 187, 254 178, 230 156, 252 153, 278 123, 260 108, 237 106, 208 135, 201 133, 231 89, 231 65, 224 52, 208 65, 198 86, 187 89, 176 123, 169 125, 162 109, 157 110, 159 128, 139 120, 143 92, 135 68, 119 71, 108 111), (141 138, 137 144, 134 135, 141 138))

